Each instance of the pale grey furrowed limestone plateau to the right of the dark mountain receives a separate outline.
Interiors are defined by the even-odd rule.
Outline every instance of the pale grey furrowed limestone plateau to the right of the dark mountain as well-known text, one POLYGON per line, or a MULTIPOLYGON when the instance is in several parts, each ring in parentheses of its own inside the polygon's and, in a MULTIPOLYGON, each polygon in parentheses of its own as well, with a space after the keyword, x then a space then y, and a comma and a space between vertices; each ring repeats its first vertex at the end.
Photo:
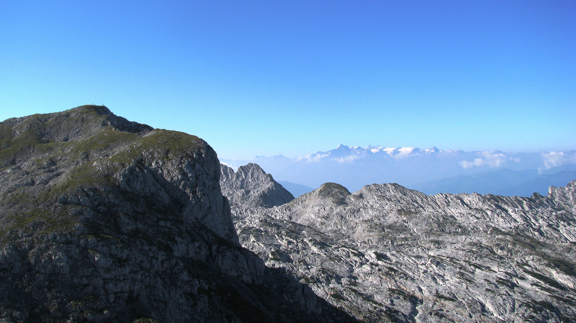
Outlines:
POLYGON ((326 183, 264 203, 286 194, 259 166, 222 173, 225 195, 251 183, 232 199, 242 246, 358 320, 576 321, 576 181, 532 197, 326 183))

